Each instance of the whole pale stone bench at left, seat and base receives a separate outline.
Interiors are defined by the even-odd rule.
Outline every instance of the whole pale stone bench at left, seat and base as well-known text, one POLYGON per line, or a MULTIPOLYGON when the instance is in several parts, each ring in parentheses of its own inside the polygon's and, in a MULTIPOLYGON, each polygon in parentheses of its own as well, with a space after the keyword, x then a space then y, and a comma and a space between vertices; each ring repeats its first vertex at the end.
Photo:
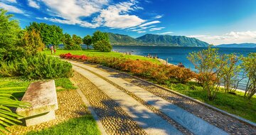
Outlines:
POLYGON ((26 126, 55 119, 58 101, 54 80, 31 83, 21 101, 31 103, 31 107, 16 109, 16 113, 25 119, 26 126))

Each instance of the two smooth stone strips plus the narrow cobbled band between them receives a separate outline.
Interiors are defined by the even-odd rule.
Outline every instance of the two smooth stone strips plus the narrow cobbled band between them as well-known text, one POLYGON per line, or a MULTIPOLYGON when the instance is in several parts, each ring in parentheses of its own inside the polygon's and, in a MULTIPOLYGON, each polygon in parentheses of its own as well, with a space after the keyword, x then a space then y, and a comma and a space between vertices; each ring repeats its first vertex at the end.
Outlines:
POLYGON ((228 134, 142 87, 111 75, 110 72, 82 63, 70 63, 76 72, 113 99, 146 134, 228 134))

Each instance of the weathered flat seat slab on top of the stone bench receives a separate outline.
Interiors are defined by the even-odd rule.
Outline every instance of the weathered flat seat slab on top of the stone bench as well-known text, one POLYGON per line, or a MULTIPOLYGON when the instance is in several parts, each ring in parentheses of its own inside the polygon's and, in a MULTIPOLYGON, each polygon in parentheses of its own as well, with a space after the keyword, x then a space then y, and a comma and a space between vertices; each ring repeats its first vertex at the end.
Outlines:
POLYGON ((16 113, 23 117, 32 117, 58 109, 54 80, 31 83, 21 101, 31 103, 31 107, 16 109, 16 113))

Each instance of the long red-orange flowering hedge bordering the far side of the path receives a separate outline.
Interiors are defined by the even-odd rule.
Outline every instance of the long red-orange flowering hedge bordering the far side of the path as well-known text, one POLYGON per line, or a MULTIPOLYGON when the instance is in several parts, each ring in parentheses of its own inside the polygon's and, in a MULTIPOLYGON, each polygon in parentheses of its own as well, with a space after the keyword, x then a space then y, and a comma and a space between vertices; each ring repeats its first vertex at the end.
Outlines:
POLYGON ((144 60, 130 60, 114 57, 88 57, 85 55, 72 55, 70 53, 61 54, 60 58, 82 60, 104 65, 124 72, 130 72, 133 75, 153 79, 161 84, 166 83, 168 80, 171 80, 171 82, 186 83, 196 77, 196 73, 187 68, 180 68, 175 65, 157 65, 144 60))

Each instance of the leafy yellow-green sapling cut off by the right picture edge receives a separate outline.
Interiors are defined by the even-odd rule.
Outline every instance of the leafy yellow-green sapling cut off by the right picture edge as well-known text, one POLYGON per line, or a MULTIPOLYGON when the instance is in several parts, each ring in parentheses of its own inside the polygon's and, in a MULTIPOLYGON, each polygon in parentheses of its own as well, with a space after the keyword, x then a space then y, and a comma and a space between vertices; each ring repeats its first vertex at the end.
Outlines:
POLYGON ((256 93, 256 53, 250 53, 247 57, 242 58, 242 66, 248 77, 245 97, 250 99, 256 93))

